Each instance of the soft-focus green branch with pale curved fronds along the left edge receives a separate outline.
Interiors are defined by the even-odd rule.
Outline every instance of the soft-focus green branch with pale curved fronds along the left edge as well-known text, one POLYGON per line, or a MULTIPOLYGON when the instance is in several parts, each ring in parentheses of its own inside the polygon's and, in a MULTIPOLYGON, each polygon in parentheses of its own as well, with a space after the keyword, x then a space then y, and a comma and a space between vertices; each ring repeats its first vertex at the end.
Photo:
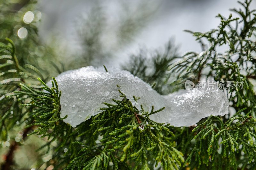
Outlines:
POLYGON ((20 91, 21 82, 37 78, 20 66, 15 55, 14 43, 8 38, 6 40, 9 44, 0 43, 0 130, 2 132, 1 139, 4 141, 8 136, 8 131, 16 123, 20 124, 21 119, 27 113, 27 110, 22 111, 22 107, 20 107, 26 98, 18 99, 16 95, 13 95, 14 91, 20 91))

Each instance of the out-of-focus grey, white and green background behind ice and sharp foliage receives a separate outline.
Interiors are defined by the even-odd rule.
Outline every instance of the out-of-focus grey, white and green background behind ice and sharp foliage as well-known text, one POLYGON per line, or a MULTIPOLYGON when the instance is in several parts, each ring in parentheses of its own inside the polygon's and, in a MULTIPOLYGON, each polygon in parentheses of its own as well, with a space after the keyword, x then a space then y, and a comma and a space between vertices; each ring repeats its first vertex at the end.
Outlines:
MULTIPOLYGON (((214 29, 220 23, 215 16, 228 17, 230 8, 240 6, 234 0, 0 0, 0 42, 9 37, 21 65, 35 66, 49 80, 88 65, 128 68, 142 55, 138 62, 145 64, 166 50, 171 56, 200 52, 201 45, 183 30, 214 29)), ((9 140, 0 141, 0 164, 13 138, 21 144, 15 151, 17 169, 51 170, 44 162, 52 155, 35 152, 47 139, 30 136, 23 144, 22 134, 17 128, 9 140)))

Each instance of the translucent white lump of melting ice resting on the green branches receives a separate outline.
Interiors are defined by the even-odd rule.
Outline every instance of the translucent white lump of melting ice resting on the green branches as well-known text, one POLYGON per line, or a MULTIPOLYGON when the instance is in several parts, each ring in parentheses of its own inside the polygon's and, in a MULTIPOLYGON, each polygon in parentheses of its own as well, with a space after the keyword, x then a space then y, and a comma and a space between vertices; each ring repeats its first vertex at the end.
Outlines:
MULTIPOLYGON (((150 115, 150 119, 159 123, 170 123, 172 126, 192 126, 200 119, 210 115, 228 114, 228 99, 218 88, 206 90, 180 90, 169 95, 160 95, 129 71, 108 67, 83 67, 69 70, 56 77, 59 90, 61 115, 64 122, 72 127, 102 112, 103 103, 115 104, 112 99, 120 96, 118 87, 137 108, 143 105, 144 110, 155 110, 165 107, 161 112, 150 115), (133 95, 140 97, 137 103, 133 95)), ((48 82, 47 85, 51 85, 48 82)))

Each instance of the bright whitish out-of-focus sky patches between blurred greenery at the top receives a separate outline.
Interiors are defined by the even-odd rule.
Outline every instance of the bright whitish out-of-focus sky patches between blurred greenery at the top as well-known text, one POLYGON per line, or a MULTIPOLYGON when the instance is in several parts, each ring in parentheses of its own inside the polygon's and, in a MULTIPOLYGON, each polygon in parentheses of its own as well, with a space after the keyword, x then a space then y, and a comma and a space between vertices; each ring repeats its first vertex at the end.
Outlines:
MULTIPOLYGON (((136 6, 138 1, 128 2, 127 4, 136 6)), ((57 34, 68 52, 79 52, 82 47, 77 41, 75 22, 90 11, 93 3, 94 1, 84 0, 39 1, 39 11, 42 12, 39 34, 46 42, 51 39, 52 34, 57 34)), ((115 17, 119 14, 116 4, 117 0, 107 0, 101 5, 106 8, 110 17, 115 17)), ((175 44, 180 47, 180 54, 191 50, 200 52, 200 44, 196 43, 192 34, 183 30, 206 32, 217 28, 220 19, 215 16, 218 13, 228 17, 231 13, 229 9, 241 8, 235 0, 152 0, 152 5, 156 6, 156 12, 150 21, 129 46, 116 52, 114 62, 112 60, 106 63, 107 66, 118 67, 120 63, 127 61, 128 56, 138 53, 141 47, 164 49, 164 44, 170 38, 175 39, 175 44)), ((252 2, 252 8, 256 8, 255 0, 252 2)))

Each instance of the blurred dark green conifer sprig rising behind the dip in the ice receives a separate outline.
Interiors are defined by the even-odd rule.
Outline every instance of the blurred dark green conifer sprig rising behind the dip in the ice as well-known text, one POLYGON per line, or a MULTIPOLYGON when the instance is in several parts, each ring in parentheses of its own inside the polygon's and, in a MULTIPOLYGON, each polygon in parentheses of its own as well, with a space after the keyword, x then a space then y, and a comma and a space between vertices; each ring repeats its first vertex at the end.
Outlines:
POLYGON ((140 50, 139 55, 132 55, 130 62, 122 67, 149 83, 160 94, 169 94, 172 86, 167 84, 171 76, 167 70, 173 61, 179 58, 177 49, 170 40, 165 46, 164 53, 157 50, 151 54, 146 50, 140 50))

